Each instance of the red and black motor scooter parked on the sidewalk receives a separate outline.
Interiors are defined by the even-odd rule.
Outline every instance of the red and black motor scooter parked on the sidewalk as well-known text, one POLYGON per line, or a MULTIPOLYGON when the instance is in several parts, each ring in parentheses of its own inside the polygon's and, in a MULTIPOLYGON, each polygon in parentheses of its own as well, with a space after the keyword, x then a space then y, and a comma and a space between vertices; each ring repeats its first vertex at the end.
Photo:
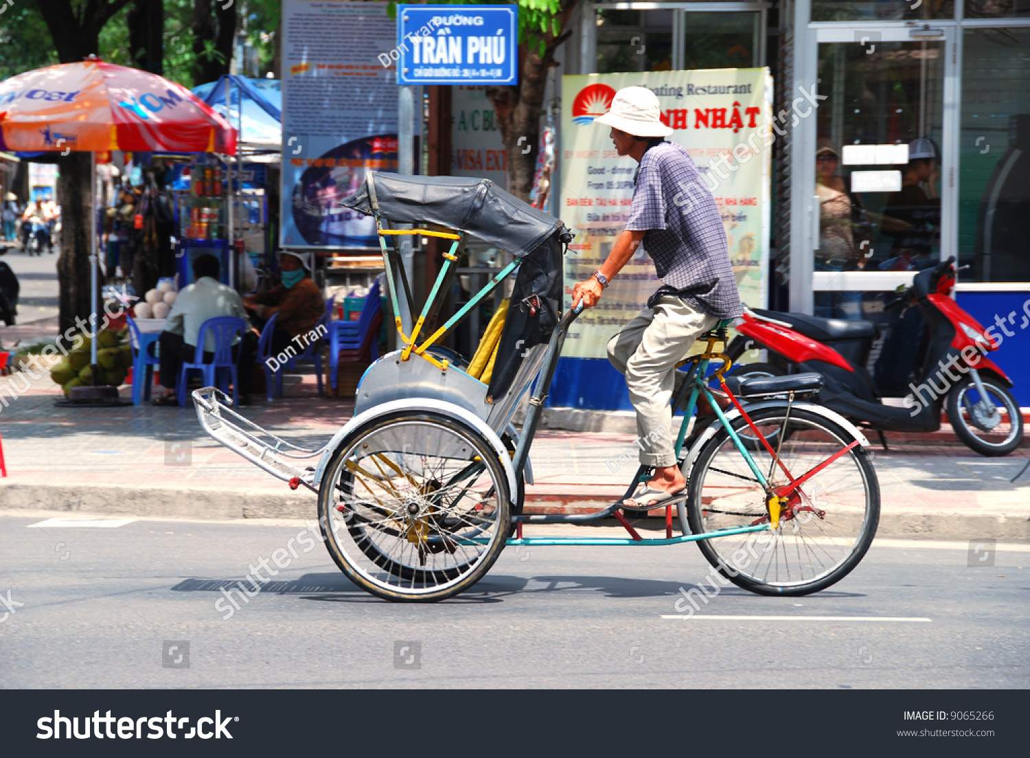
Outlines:
MULTIPOLYGON (((883 432, 936 432, 941 409, 955 434, 981 455, 1007 455, 1023 440, 1023 414, 1008 388, 1012 381, 985 353, 997 341, 955 304, 955 259, 916 274, 912 286, 889 310, 918 308, 922 322, 915 342, 895 344, 892 360, 923 359, 916 380, 904 392, 902 406, 885 405, 884 394, 865 368, 879 330, 871 321, 818 318, 801 313, 746 311, 739 335, 726 352, 734 361, 748 349, 764 348, 769 361, 742 364, 730 375, 744 379, 802 372, 823 375, 824 386, 814 398, 855 423, 883 432)), ((916 316, 917 314, 912 314, 916 316)), ((900 322, 898 319, 897 322, 900 322)), ((890 338, 888 339, 890 341, 890 338)), ((886 343, 885 343, 886 348, 886 343)), ((907 379, 907 370, 904 371, 907 379)))

